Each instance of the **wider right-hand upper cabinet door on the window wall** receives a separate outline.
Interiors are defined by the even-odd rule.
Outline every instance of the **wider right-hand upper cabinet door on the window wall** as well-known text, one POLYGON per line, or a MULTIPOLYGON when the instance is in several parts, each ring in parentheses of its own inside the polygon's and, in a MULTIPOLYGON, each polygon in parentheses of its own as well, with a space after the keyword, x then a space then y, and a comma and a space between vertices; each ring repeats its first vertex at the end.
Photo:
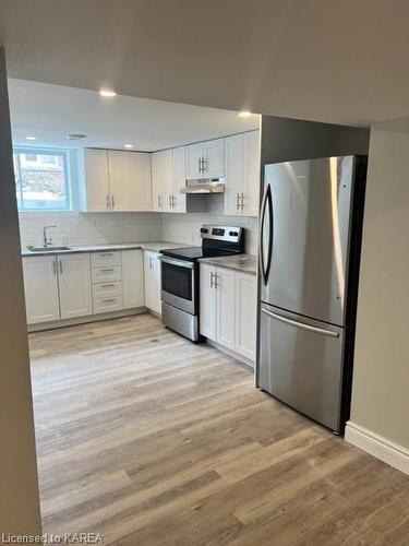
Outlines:
POLYGON ((108 174, 112 211, 152 209, 151 154, 110 150, 108 174))

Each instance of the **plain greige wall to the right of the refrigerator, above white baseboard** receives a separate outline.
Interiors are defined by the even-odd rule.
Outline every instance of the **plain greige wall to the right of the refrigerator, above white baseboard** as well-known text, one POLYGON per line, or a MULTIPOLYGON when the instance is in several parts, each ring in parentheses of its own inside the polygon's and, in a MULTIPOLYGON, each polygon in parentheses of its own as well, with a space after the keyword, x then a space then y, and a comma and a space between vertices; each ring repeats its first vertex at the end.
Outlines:
POLYGON ((372 129, 351 420, 409 449, 409 121, 372 129))

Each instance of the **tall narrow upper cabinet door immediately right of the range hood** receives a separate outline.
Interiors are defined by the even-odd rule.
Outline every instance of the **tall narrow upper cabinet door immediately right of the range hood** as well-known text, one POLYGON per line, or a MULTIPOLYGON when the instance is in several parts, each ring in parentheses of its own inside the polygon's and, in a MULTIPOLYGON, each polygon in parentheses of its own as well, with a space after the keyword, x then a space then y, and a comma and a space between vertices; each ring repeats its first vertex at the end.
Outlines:
POLYGON ((239 216, 244 177, 243 134, 233 134, 225 139, 225 214, 239 216))

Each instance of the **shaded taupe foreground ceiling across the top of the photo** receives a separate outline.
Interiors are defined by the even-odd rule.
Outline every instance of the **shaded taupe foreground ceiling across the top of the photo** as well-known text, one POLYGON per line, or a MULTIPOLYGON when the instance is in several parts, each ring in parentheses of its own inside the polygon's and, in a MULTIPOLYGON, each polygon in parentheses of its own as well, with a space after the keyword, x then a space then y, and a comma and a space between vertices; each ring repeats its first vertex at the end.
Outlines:
POLYGON ((368 124, 409 115, 408 0, 1 0, 12 78, 368 124))

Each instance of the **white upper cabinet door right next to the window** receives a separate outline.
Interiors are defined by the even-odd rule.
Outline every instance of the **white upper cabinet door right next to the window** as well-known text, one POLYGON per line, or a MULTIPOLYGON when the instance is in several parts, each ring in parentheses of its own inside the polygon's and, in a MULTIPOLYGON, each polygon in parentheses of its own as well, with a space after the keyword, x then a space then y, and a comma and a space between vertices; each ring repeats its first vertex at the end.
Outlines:
POLYGON ((81 210, 110 210, 108 153, 106 150, 83 150, 79 155, 81 210))

